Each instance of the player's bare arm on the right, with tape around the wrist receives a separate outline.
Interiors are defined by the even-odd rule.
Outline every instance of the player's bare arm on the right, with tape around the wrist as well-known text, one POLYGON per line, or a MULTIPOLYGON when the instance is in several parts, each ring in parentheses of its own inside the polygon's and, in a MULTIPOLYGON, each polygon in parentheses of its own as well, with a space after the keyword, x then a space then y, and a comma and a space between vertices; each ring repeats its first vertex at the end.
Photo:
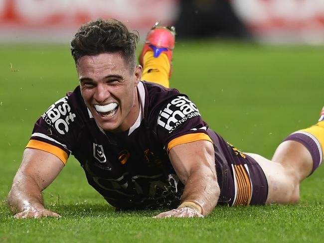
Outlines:
POLYGON ((177 176, 185 185, 181 205, 156 218, 201 217, 210 214, 220 194, 212 143, 198 140, 176 145, 170 149, 169 158, 177 176))

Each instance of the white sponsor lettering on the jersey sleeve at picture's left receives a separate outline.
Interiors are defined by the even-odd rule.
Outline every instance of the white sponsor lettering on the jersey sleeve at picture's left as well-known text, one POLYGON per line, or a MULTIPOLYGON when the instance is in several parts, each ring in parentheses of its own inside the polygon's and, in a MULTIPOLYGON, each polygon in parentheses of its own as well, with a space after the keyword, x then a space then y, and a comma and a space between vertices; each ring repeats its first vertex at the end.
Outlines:
POLYGON ((55 127, 60 134, 65 134, 69 131, 69 124, 74 122, 75 114, 71 113, 67 97, 64 97, 51 105, 42 118, 47 124, 55 127))

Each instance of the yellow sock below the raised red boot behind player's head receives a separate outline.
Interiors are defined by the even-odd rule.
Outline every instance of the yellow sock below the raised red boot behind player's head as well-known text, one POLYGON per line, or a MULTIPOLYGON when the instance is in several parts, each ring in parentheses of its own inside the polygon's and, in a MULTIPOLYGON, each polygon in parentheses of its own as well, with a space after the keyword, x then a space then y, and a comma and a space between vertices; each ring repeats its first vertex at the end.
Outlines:
POLYGON ((169 88, 171 67, 165 53, 161 53, 159 57, 154 57, 153 51, 148 51, 143 57, 143 66, 143 80, 169 88))

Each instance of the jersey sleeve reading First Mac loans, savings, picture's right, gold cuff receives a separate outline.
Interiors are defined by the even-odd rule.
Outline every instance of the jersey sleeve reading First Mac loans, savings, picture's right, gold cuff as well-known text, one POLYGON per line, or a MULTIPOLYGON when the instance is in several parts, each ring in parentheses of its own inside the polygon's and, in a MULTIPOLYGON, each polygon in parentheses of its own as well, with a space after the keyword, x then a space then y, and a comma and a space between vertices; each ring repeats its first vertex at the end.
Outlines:
POLYGON ((197 140, 212 142, 208 124, 202 121, 196 105, 187 96, 171 98, 162 107, 157 119, 157 134, 167 152, 174 146, 197 140))

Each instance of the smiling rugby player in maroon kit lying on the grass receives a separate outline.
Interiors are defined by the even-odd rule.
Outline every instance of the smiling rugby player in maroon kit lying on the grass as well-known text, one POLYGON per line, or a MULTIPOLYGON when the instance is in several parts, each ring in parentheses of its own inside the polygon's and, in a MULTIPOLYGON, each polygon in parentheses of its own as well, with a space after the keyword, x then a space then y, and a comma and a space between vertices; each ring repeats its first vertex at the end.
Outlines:
POLYGON ((15 218, 60 217, 41 191, 70 154, 117 209, 204 217, 219 205, 297 203, 323 160, 320 121, 289 135, 272 161, 242 153, 208 128, 194 103, 169 89, 174 30, 155 26, 136 64, 138 36, 117 20, 81 26, 71 42, 80 85, 35 123, 7 201, 15 218), (164 86, 149 80, 160 82, 164 86))

